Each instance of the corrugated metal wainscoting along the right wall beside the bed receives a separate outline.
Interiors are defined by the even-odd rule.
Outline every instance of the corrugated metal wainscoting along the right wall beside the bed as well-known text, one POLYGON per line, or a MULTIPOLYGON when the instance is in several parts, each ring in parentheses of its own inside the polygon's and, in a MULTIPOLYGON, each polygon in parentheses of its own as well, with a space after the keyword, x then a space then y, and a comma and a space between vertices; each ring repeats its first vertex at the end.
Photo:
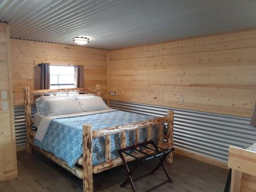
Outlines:
POLYGON ((154 116, 173 110, 175 146, 225 163, 229 145, 246 148, 256 142, 250 118, 117 100, 111 100, 111 108, 154 116))

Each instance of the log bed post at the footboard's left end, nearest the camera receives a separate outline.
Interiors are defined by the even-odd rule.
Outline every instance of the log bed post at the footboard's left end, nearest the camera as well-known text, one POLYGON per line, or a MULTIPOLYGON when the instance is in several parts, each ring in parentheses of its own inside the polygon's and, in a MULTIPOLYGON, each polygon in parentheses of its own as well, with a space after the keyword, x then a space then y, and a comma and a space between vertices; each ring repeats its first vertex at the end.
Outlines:
POLYGON ((93 149, 92 125, 84 124, 83 129, 83 192, 93 191, 93 149))

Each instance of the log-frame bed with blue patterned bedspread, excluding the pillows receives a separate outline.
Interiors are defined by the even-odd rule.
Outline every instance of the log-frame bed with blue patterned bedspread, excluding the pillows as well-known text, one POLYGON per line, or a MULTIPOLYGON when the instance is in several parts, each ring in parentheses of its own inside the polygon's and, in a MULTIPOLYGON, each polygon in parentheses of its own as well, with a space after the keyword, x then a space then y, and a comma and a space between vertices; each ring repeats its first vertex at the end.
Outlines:
MULTIPOLYGON (((35 132, 32 130, 31 95, 75 91, 100 96, 100 85, 97 85, 95 89, 30 91, 30 87, 25 87, 24 90, 27 153, 31 153, 33 148, 69 170, 83 180, 84 191, 93 191, 93 174, 122 164, 116 152, 119 148, 151 139, 156 141, 160 147, 173 147, 174 113, 172 111, 168 111, 166 117, 140 115, 110 108, 51 117, 35 114, 33 122, 36 127, 48 123, 45 131, 42 132, 44 129, 38 128, 35 132), (167 125, 166 135, 163 131, 165 124, 167 125), (40 140, 38 135, 41 132, 44 134, 40 140)), ((151 151, 145 151, 151 153, 151 151)), ((143 156, 138 152, 133 152, 133 155, 143 156)), ((129 162, 134 158, 125 156, 125 160, 129 162)), ((173 162, 172 154, 168 156, 167 161, 173 162)))

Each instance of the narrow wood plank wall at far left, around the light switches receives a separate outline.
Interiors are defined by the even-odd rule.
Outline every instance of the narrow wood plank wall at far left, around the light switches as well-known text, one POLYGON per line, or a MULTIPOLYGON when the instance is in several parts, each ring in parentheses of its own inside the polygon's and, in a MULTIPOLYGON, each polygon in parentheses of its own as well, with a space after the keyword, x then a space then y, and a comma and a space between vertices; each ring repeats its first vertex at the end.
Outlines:
POLYGON ((9 27, 0 23, 0 181, 17 177, 9 36, 9 27), (7 91, 7 99, 1 91, 7 91), (3 102, 8 102, 8 110, 3 110, 3 102))

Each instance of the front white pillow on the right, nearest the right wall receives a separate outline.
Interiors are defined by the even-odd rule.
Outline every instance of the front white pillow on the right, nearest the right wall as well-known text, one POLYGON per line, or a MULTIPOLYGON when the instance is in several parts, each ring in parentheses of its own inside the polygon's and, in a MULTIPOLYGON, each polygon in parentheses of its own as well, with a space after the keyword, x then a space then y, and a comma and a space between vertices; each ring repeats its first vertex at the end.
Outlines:
POLYGON ((98 96, 77 97, 77 100, 82 108, 82 111, 98 111, 110 109, 108 105, 105 104, 103 99, 98 96))

